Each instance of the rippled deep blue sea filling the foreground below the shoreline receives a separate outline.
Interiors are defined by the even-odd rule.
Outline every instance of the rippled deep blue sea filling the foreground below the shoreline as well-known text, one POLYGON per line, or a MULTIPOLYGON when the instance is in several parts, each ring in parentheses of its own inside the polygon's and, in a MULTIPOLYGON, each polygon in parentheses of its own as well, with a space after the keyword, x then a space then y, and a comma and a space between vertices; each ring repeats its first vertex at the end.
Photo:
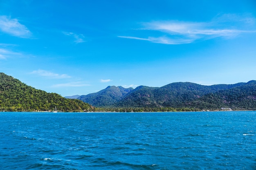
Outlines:
POLYGON ((256 111, 0 112, 1 170, 255 170, 256 111))

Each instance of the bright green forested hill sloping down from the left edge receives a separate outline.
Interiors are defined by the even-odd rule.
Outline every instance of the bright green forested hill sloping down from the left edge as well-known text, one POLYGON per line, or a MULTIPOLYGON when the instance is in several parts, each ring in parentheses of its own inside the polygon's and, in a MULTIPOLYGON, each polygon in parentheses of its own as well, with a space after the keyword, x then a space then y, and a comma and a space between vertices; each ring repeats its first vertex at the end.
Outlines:
POLYGON ((11 76, 0 73, 0 111, 59 111, 78 112, 92 109, 78 99, 66 99, 56 93, 37 90, 11 76))

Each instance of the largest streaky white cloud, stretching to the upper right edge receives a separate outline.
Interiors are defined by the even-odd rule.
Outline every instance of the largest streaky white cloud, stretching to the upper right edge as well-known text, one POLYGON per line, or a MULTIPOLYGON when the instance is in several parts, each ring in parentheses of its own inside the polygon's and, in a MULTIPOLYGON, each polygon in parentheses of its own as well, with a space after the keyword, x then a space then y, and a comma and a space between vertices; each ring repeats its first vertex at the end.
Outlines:
POLYGON ((241 33, 256 33, 255 18, 250 16, 220 15, 210 22, 154 21, 142 24, 137 31, 148 31, 148 36, 118 36, 135 40, 146 40, 160 44, 189 44, 196 40, 208 40, 216 37, 231 38, 241 33))

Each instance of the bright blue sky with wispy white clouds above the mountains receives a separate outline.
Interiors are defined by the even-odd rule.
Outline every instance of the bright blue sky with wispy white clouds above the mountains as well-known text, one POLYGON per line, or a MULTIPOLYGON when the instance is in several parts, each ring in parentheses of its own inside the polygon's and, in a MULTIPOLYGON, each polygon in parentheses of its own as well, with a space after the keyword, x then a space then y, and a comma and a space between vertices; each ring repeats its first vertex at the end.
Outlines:
POLYGON ((256 79, 255 0, 0 0, 0 72, 64 96, 256 79))

